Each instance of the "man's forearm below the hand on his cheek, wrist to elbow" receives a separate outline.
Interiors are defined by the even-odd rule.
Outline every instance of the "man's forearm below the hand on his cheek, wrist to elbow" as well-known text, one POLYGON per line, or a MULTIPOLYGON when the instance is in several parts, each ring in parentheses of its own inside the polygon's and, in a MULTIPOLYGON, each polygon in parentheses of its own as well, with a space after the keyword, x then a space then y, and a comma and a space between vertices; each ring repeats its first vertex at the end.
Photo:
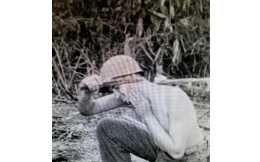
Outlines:
POLYGON ((146 116, 144 118, 144 121, 148 129, 151 131, 153 138, 157 143, 157 146, 161 150, 169 153, 173 158, 176 159, 179 159, 183 156, 182 154, 180 154, 179 149, 175 147, 171 136, 163 129, 161 124, 153 115, 146 116))

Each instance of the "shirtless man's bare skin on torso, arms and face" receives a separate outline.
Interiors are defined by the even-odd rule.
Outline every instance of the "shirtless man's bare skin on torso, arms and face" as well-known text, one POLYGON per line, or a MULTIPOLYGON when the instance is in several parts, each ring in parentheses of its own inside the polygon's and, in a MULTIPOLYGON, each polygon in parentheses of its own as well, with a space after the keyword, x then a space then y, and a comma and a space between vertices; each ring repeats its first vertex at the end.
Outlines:
MULTIPOLYGON (((131 77, 118 77, 115 80, 131 77)), ((99 79, 96 76, 91 80, 92 84, 94 80, 97 83, 91 87, 93 90, 99 88, 99 79)), ((183 157, 186 148, 203 141, 193 104, 180 88, 154 84, 143 78, 140 82, 117 85, 113 92, 96 100, 91 98, 91 93, 81 92, 80 112, 91 115, 119 107, 125 102, 131 103, 151 131, 156 145, 175 159, 183 157), (84 101, 89 106, 86 107, 84 101)))

